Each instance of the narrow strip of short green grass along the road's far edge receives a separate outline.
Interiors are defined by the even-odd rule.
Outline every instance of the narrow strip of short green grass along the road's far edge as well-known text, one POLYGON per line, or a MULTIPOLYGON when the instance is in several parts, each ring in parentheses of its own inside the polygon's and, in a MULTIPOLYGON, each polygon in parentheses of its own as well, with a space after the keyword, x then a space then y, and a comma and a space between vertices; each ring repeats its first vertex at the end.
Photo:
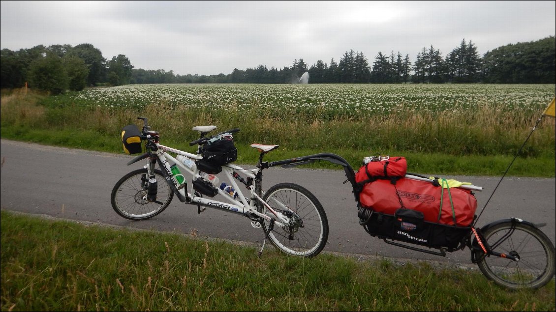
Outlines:
MULTIPOLYGON (((102 135, 95 130, 75 129, 36 129, 31 127, 12 127, 0 125, 2 138, 34 142, 59 147, 79 148, 97 150, 100 152, 124 154, 120 140, 117 137, 102 135)), ((241 132, 235 135, 241 137, 241 132)), ((185 142, 188 142, 186 140, 185 142)), ((162 140, 162 144, 186 150, 194 153, 195 148, 190 147, 183 140, 162 140)), ((271 142, 269 142, 271 144, 271 142)), ((236 143, 239 158, 236 161, 241 164, 254 164, 259 158, 259 153, 249 147, 246 143, 236 143)), ((369 155, 379 153, 381 155, 404 156, 408 159, 408 171, 423 174, 449 174, 449 175, 488 175, 501 176, 513 160, 511 155, 449 155, 442 153, 416 153, 400 152, 396 150, 359 150, 359 149, 291 149, 280 147, 266 155, 266 161, 295 158, 303 155, 317 153, 335 153, 345 158, 354 170, 361 165, 361 160, 369 155)), ((518 157, 510 170, 509 175, 515 177, 554 177, 556 171, 554 158, 547 157, 518 157), (531 165, 534 163, 535 165, 531 165)), ((329 162, 315 162, 304 165, 305 168, 341 169, 339 165, 329 162)))

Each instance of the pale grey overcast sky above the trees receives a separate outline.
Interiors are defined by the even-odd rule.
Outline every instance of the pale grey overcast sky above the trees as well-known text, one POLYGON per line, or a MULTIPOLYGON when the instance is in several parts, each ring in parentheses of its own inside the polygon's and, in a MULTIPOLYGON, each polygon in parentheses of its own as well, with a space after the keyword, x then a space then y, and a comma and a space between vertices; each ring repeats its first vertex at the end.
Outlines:
POLYGON ((0 48, 91 43, 103 57, 175 74, 340 60, 350 49, 410 61, 461 39, 481 56, 556 34, 556 1, 2 1, 0 48))

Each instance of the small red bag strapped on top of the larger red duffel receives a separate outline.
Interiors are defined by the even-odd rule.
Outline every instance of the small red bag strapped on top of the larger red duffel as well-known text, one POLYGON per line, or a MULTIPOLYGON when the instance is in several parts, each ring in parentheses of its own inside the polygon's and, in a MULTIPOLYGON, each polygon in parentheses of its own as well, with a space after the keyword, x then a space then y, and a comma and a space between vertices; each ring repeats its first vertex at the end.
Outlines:
POLYGON ((378 179, 396 180, 403 178, 408 170, 405 157, 390 157, 388 160, 376 160, 359 168, 355 174, 355 182, 366 184, 378 179))

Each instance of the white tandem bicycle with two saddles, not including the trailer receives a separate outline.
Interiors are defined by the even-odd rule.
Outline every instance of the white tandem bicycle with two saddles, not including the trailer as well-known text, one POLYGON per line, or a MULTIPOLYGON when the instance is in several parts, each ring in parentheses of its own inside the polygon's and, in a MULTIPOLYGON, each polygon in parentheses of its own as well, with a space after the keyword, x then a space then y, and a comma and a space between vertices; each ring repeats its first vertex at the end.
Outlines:
POLYGON ((140 153, 141 142, 145 142, 146 152, 130 160, 127 165, 144 159, 146 165, 124 175, 114 186, 111 203, 118 215, 131 220, 155 217, 170 205, 176 195, 182 203, 197 205, 197 213, 209 207, 249 218, 252 227, 262 228, 265 234, 259 256, 267 239, 281 251, 294 256, 312 257, 322 251, 329 228, 319 200, 309 190, 294 183, 276 184, 266 192, 261 189, 262 170, 277 165, 277 162, 263 162, 264 155, 279 145, 252 144, 251 147, 260 151, 259 162, 255 169, 244 169, 231 164, 237 158, 237 150, 230 144, 233 142, 232 134, 240 129, 230 129, 207 137, 216 126, 193 127, 193 131, 200 133, 199 139, 189 143, 190 146, 197 145, 197 152, 193 154, 160 144, 160 133, 150 129, 148 119, 138 119, 143 120, 142 131, 139 132, 135 125, 131 128, 127 126, 128 133, 122 132, 122 140, 124 149, 130 154, 140 153), (207 146, 211 142, 224 142, 229 150, 210 152, 207 146), (176 158, 169 152, 177 154, 176 158), (187 158, 182 159, 186 163, 195 165, 188 167, 177 159, 179 155, 187 158), (215 159, 220 159, 220 162, 214 163, 215 159), (180 170, 173 169, 174 166, 180 170), (187 172, 192 178, 189 189, 181 172, 187 172), (202 177, 212 174, 209 177, 214 179, 214 174, 220 172, 231 183, 231 188, 219 188, 202 177), (249 190, 248 196, 240 191, 236 181, 249 190), (217 194, 224 196, 226 202, 211 199, 217 194))

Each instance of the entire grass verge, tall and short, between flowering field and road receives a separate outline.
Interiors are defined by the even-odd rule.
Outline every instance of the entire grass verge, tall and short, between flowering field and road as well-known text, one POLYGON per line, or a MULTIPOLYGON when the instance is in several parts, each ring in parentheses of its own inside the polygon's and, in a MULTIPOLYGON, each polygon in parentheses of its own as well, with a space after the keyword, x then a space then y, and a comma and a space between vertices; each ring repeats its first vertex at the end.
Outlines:
MULTIPOLYGON (((251 143, 279 144, 267 160, 335 153, 357 170, 361 159, 381 154, 404 156, 410 172, 434 175, 502 175, 536 120, 519 112, 482 105, 478 111, 440 113, 408 110, 389 115, 353 117, 295 116, 272 119, 236 110, 187 110, 167 103, 141 110, 67 105, 40 105, 45 97, 21 90, 2 96, 2 138, 69 148, 122 153, 124 125, 146 116, 161 143, 189 152, 188 142, 198 137, 192 125, 215 124, 219 129, 240 127, 235 135, 238 162, 253 164, 258 154, 251 143)), ((544 119, 516 159, 509 175, 555 177, 555 123, 544 119), (534 165, 532 165, 534 164, 534 165)), ((310 168, 337 168, 326 162, 310 168)))

